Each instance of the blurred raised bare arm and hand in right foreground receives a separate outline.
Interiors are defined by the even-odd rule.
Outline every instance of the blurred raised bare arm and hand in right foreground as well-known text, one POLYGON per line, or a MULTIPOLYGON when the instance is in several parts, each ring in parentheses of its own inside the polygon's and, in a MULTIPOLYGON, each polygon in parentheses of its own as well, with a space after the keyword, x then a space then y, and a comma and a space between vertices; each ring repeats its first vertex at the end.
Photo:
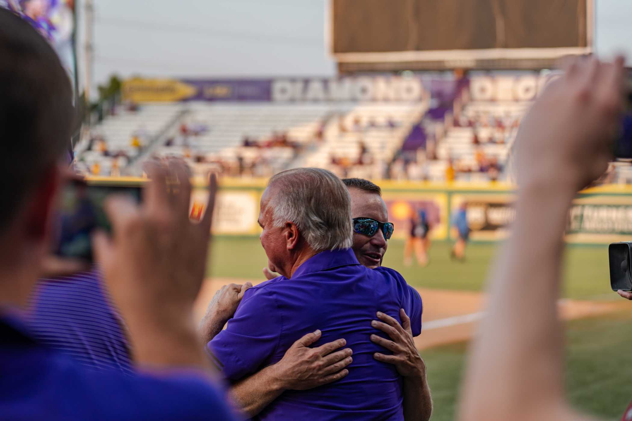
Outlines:
POLYGON ((556 302, 568 210, 577 191, 607 168, 622 94, 623 59, 573 61, 523 119, 516 138, 516 220, 490 278, 460 420, 592 419, 564 396, 556 302))

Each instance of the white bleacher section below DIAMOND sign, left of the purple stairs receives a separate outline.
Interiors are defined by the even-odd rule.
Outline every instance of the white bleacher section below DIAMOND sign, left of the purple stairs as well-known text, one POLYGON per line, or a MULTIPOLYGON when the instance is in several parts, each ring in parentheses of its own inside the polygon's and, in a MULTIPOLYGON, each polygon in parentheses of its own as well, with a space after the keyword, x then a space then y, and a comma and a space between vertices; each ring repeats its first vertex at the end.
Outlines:
MULTIPOLYGON (((143 105, 136 114, 125 112, 109 117, 95 131, 103 133, 109 148, 120 146, 131 153, 130 139, 138 127, 152 129, 154 136, 164 129, 164 124, 155 121, 157 110, 152 107, 153 104, 143 105)), ((165 105, 162 110, 169 110, 168 116, 161 117, 163 123, 173 116, 178 119, 168 124, 154 144, 147 145, 143 151, 146 156, 184 157, 198 174, 219 170, 231 175, 264 177, 305 165, 339 170, 331 165, 331 157, 358 162, 360 142, 375 162, 387 162, 425 111, 419 104, 308 102, 188 102, 165 105), (183 126, 187 127, 186 133, 183 126), (277 145, 275 136, 283 136, 289 145, 277 145), (257 146, 245 146, 246 139, 257 146)), ((100 159, 102 172, 106 172, 111 158, 101 155, 98 151, 85 151, 82 157, 88 165, 100 159)), ((363 166, 357 170, 362 171, 363 166)), ((126 170, 126 174, 140 175, 139 172, 139 167, 126 170)))

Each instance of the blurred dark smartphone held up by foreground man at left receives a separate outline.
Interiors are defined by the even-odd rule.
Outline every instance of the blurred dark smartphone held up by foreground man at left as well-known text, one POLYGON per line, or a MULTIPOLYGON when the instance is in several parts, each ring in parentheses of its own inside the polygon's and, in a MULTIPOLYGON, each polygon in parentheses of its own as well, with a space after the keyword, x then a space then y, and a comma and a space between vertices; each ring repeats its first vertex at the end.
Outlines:
POLYGON ((111 225, 103 205, 111 194, 129 196, 140 202, 142 182, 99 182, 73 180, 64 187, 58 206, 54 252, 62 258, 91 262, 92 231, 109 232, 111 225))

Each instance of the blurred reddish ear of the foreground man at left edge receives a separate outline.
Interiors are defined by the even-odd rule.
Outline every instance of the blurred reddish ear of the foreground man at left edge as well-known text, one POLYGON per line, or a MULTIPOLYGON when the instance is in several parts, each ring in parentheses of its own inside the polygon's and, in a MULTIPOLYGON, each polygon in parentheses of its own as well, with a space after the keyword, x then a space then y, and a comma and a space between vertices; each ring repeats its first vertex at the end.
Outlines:
POLYGON ((42 174, 39 184, 35 186, 33 193, 27 199, 28 207, 23 221, 30 240, 39 242, 49 237, 56 199, 63 182, 63 169, 58 165, 52 165, 42 174))

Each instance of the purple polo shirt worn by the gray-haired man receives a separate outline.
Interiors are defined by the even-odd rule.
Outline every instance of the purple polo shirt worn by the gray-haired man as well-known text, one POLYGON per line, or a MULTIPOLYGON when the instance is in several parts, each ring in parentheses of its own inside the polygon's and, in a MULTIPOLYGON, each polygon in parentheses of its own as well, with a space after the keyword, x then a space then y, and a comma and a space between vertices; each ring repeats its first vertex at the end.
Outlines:
POLYGON ((422 299, 399 273, 370 270, 351 249, 324 251, 305 261, 291 279, 279 276, 250 288, 228 326, 209 343, 234 382, 279 362, 291 345, 320 329, 313 347, 344 338, 353 350, 349 374, 305 391, 288 390, 264 409, 260 420, 403 420, 403 380, 392 364, 373 358, 389 353, 370 340, 377 311, 399 321, 410 316, 413 335, 422 329, 422 299))

